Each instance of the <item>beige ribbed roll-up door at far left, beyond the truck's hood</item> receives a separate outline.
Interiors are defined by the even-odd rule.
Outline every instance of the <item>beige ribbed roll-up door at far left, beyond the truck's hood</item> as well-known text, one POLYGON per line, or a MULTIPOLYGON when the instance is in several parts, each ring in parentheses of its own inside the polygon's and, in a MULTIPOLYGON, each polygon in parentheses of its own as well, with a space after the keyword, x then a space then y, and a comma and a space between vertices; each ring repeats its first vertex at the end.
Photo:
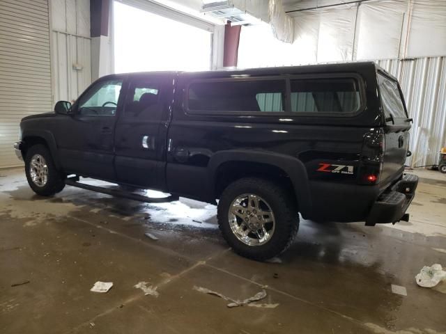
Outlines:
POLYGON ((13 152, 22 118, 52 110, 47 0, 1 0, 0 168, 13 152))

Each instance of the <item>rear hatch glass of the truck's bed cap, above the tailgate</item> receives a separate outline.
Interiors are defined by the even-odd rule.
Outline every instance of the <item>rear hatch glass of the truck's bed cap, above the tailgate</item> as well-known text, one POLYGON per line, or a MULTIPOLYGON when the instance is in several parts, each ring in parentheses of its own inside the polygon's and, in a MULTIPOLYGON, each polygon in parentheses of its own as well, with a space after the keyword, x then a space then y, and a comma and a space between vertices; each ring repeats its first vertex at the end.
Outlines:
POLYGON ((378 84, 385 117, 407 118, 398 83, 378 73, 378 84))

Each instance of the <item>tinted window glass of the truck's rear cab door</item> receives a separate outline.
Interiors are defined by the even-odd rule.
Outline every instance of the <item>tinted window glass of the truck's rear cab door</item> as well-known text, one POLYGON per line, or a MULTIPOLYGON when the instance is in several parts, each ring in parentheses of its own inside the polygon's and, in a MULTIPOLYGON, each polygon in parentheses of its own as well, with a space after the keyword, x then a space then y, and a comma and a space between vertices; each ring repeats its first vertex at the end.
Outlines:
POLYGON ((160 87, 153 81, 133 81, 127 101, 124 117, 128 119, 158 119, 161 113, 159 103, 160 87))

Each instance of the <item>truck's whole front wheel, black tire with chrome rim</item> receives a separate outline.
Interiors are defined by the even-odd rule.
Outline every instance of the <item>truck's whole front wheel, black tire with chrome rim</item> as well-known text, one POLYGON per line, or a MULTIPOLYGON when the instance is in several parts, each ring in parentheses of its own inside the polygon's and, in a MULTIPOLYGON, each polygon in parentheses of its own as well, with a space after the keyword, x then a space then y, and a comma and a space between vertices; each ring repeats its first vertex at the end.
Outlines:
POLYGON ((29 186, 41 196, 52 196, 65 186, 51 153, 45 145, 33 145, 26 152, 25 173, 29 186))

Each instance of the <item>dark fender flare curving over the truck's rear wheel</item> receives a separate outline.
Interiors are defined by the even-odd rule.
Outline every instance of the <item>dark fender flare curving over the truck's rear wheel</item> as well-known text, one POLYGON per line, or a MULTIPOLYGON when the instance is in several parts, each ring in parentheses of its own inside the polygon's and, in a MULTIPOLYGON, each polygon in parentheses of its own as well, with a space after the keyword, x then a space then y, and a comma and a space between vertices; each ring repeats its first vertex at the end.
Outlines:
MULTIPOLYGON (((210 157, 208 163, 208 181, 211 184, 211 193, 215 194, 215 177, 217 169, 229 161, 247 161, 275 166, 289 175, 298 200, 299 211, 307 216, 312 209, 309 181, 305 165, 297 158, 286 154, 252 150, 225 150, 216 152, 210 157)), ((215 198, 215 196, 213 196, 215 198)))

